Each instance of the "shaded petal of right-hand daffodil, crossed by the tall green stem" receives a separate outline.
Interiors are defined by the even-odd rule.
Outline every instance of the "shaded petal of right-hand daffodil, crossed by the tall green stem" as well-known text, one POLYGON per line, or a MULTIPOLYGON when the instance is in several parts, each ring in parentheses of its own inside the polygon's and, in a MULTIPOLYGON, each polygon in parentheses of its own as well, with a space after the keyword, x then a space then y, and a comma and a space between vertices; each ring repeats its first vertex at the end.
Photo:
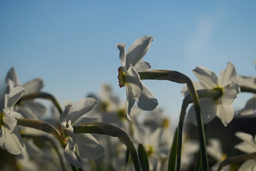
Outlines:
MULTIPOLYGON (((200 99, 199 102, 203 124, 209 123, 216 116, 217 106, 212 98, 200 99)), ((197 126, 196 113, 193 105, 188 110, 187 119, 197 126)))

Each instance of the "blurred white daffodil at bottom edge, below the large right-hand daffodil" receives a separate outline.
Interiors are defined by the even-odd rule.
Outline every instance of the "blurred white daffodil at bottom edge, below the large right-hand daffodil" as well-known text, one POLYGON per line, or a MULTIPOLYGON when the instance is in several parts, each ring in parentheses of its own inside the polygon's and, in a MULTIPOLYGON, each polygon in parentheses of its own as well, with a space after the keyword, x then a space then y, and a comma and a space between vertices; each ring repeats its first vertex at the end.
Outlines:
MULTIPOLYGON (((216 164, 210 168, 210 171, 217 171, 220 163, 227 158, 227 154, 222 152, 222 146, 219 139, 210 138, 208 142, 207 152, 217 161, 216 164)), ((221 171, 230 171, 230 165, 225 166, 221 171)))

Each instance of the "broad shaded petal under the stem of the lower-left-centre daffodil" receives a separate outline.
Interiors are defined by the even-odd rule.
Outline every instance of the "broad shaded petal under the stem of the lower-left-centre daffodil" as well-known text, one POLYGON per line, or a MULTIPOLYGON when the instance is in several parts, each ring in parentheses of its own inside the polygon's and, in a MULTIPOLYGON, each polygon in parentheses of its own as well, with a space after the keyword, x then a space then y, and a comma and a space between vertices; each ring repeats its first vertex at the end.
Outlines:
POLYGON ((91 134, 75 134, 80 157, 96 159, 103 155, 104 148, 91 134))

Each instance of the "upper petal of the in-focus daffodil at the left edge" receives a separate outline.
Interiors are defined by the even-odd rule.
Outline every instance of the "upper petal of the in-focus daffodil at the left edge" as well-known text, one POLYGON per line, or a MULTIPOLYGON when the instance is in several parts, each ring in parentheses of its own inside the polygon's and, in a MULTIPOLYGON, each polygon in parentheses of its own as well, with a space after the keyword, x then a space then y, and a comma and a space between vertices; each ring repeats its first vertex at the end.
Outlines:
POLYGON ((25 89, 22 86, 16 86, 10 90, 9 94, 5 94, 4 107, 12 107, 22 97, 25 89))

